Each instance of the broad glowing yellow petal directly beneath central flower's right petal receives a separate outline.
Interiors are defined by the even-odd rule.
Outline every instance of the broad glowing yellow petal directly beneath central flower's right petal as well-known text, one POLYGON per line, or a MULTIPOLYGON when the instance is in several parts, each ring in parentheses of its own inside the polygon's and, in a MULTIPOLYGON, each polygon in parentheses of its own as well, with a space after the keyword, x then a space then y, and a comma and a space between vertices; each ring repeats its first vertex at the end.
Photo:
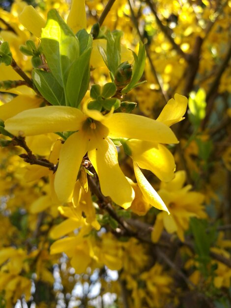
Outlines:
POLYGON ((174 157, 165 146, 137 139, 129 139, 126 144, 132 151, 132 159, 140 168, 150 170, 161 181, 168 182, 173 179, 174 157))

